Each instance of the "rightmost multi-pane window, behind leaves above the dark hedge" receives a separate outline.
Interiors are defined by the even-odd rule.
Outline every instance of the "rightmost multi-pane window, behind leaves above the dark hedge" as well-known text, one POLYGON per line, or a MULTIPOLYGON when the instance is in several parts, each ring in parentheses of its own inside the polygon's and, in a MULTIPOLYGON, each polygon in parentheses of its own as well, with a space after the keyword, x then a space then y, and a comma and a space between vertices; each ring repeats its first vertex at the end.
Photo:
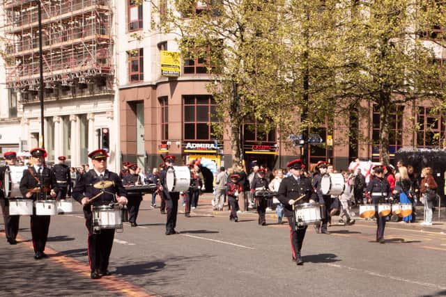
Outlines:
POLYGON ((418 147, 437 147, 442 144, 440 138, 445 133, 445 125, 440 115, 433 114, 429 107, 418 107, 418 147))

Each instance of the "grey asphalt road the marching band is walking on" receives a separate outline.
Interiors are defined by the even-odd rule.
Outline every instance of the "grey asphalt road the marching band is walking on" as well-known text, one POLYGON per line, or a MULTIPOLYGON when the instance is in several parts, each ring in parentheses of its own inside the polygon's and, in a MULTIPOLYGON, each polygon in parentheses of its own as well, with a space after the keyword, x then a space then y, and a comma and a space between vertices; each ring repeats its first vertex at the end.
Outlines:
MULTIPOLYGON (((181 209, 181 207, 180 207, 181 209)), ((76 206, 80 211, 80 207, 76 206)), ((47 254, 33 259, 29 217, 20 243, 10 246, 0 225, 1 296, 446 296, 446 234, 393 224, 385 244, 376 225, 332 225, 332 234, 305 237, 303 266, 291 262, 289 227, 254 213, 229 221, 229 212, 178 215, 164 234, 165 215, 141 205, 138 227, 116 233, 109 270, 89 278, 86 228, 80 212, 53 216, 47 254)))

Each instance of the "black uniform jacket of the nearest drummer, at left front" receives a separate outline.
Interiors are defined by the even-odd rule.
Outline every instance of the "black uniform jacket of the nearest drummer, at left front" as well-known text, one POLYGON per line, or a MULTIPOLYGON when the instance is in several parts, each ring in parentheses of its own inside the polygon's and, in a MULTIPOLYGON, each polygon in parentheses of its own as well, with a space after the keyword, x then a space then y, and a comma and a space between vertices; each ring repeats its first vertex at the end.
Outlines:
MULTIPOLYGON (((112 181, 114 184, 103 189, 105 193, 102 193, 98 198, 91 202, 93 206, 106 205, 115 202, 115 195, 127 197, 127 191, 125 191, 121 179, 115 172, 106 169, 102 180, 112 181)), ((98 195, 101 193, 102 188, 95 188, 93 185, 100 181, 101 180, 95 170, 89 170, 89 172, 84 173, 72 191, 72 198, 75 198, 75 200, 80 203, 84 197, 91 199, 95 195, 98 195)), ((90 207, 89 205, 86 205, 84 211, 88 209, 90 209, 90 207)))

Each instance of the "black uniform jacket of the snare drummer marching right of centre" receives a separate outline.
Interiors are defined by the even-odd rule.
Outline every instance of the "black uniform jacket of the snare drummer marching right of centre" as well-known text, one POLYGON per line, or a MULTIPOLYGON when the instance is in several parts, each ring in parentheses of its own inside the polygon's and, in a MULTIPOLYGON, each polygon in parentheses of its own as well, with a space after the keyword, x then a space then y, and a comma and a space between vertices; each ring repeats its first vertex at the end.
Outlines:
POLYGON ((279 190, 277 191, 277 199, 285 206, 285 216, 293 216, 293 206, 289 204, 289 200, 295 200, 302 195, 305 195, 305 198, 302 198, 296 204, 307 203, 310 199, 317 200, 310 179, 301 176, 298 182, 293 175, 282 179, 279 190))

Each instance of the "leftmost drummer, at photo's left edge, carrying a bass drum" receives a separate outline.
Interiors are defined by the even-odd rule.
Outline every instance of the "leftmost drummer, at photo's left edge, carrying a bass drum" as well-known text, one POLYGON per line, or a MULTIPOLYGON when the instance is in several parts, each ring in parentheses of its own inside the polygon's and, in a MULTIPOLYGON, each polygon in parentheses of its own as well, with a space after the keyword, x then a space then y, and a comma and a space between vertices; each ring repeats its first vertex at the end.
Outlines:
POLYGON ((5 180, 5 173, 10 171, 10 166, 15 166, 17 161, 17 154, 15 152, 4 152, 6 165, 0 167, 0 205, 3 212, 3 223, 5 225, 6 240, 9 244, 16 244, 17 233, 19 232, 20 216, 9 215, 9 200, 6 198, 8 193, 3 193, 3 182, 5 180))

